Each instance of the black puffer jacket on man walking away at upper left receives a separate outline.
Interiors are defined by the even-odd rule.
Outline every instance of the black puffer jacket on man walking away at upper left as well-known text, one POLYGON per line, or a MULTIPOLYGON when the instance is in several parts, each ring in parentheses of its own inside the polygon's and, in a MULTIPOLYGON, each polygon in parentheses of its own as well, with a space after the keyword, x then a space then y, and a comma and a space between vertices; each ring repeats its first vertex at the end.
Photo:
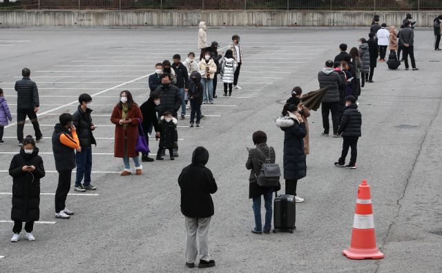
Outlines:
POLYGON ((15 91, 17 91, 17 109, 39 107, 39 90, 35 81, 31 81, 29 77, 23 77, 15 83, 15 91))

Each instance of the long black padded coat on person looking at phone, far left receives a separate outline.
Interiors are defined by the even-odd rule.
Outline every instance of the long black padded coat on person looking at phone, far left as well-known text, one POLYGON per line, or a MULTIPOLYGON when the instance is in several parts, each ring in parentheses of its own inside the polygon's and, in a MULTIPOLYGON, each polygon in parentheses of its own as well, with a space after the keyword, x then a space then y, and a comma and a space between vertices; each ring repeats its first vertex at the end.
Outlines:
POLYGON ((23 149, 16 154, 9 167, 12 176, 12 221, 38 221, 40 217, 40 179, 45 176, 43 159, 35 148, 32 154, 23 149), (23 172, 23 166, 35 166, 33 172, 23 172), (33 177, 32 177, 33 176, 33 177))

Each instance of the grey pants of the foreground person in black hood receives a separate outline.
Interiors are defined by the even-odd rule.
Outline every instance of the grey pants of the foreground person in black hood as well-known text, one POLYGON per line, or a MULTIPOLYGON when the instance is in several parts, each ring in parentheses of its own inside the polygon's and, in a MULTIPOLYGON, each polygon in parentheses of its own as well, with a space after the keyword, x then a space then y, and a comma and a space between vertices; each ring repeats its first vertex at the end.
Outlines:
POLYGON ((196 245, 196 236, 200 243, 200 259, 210 261, 209 254, 209 224, 211 217, 207 218, 190 218, 186 216, 186 262, 195 263, 198 256, 198 248, 196 245))

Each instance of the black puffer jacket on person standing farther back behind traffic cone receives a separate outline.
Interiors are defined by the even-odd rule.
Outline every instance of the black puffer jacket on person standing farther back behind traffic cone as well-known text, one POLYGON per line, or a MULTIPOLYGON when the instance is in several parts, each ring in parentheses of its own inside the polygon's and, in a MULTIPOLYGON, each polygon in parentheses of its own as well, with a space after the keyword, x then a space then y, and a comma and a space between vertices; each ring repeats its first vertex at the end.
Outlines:
POLYGON ((343 137, 361 136, 362 114, 358 105, 351 104, 344 109, 343 119, 340 121, 338 134, 343 137))

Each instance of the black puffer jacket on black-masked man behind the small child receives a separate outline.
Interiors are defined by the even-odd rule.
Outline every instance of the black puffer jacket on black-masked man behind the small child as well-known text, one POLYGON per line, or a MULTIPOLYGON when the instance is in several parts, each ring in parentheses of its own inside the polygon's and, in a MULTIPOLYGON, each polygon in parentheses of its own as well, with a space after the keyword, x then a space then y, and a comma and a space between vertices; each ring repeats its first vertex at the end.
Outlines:
POLYGON ((173 117, 177 117, 177 111, 181 107, 182 96, 180 90, 175 85, 169 85, 164 88, 160 85, 155 93, 160 94, 161 103, 157 106, 158 115, 161 117, 164 112, 169 111, 173 114, 173 117))

